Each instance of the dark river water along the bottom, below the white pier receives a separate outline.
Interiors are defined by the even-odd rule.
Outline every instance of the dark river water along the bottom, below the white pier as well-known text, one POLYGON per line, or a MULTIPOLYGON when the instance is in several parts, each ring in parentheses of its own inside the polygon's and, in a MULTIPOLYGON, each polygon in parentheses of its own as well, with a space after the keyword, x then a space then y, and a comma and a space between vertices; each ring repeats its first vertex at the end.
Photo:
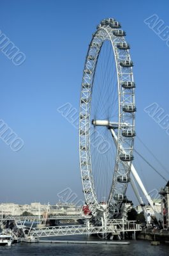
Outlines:
MULTIPOLYGON (((54 240, 95 240, 87 236, 57 237, 54 240)), ((50 237, 50 240, 52 238, 50 237)), ((169 245, 152 246, 150 241, 130 241, 130 244, 54 244, 54 243, 18 243, 12 246, 1 246, 3 256, 169 256, 169 245)))

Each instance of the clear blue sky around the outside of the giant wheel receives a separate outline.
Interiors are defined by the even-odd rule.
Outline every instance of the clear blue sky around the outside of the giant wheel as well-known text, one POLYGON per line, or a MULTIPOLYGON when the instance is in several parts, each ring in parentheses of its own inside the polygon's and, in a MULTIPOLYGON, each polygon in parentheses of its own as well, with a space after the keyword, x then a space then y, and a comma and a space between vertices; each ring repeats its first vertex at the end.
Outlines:
MULTIPOLYGON (((83 198, 78 131, 57 108, 66 102, 79 108, 87 47, 106 17, 122 23, 131 45, 137 134, 168 168, 169 136, 143 111, 157 102, 169 114, 169 47, 143 22, 156 13, 169 26, 168 7, 164 0, 1 0, 0 29, 26 54, 26 61, 15 66, 0 51, 0 118, 24 140, 19 152, 0 140, 0 202, 55 204, 57 193, 67 187, 83 198)), ((139 143, 136 147, 168 179, 139 143)), ((165 185, 141 160, 140 166, 148 191, 165 185)), ((129 195, 134 198, 131 191, 129 195)))

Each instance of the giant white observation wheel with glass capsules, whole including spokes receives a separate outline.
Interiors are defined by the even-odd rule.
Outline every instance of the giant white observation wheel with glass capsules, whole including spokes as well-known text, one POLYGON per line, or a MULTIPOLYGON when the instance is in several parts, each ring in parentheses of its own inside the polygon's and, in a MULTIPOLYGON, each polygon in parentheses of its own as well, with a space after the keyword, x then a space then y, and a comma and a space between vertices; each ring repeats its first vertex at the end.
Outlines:
POLYGON ((80 95, 82 185, 93 216, 122 211, 135 137, 135 82, 126 33, 115 19, 101 20, 85 59, 80 95))

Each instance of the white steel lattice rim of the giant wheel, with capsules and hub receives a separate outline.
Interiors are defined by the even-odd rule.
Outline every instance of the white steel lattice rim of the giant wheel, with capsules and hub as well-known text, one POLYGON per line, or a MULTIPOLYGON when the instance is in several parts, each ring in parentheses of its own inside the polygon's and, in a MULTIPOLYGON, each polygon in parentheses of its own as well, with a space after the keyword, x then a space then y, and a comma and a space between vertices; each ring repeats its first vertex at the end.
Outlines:
MULTIPOLYGON (((121 24, 114 19, 102 20, 92 35, 85 59, 80 95, 79 149, 80 169, 86 204, 93 216, 103 209, 96 195, 96 186, 92 175, 91 126, 106 126, 116 139, 117 152, 112 170, 112 186, 106 202, 107 214, 113 218, 119 212, 125 198, 129 182, 131 162, 133 160, 133 141, 135 136, 135 83, 133 79, 133 61, 129 55, 126 33, 119 29, 121 24), (114 52, 117 76, 118 121, 91 120, 92 92, 96 79, 99 55, 105 42, 110 42, 114 52), (101 208, 102 207, 102 208, 101 208)), ((103 211, 105 211, 105 209, 103 211)))

